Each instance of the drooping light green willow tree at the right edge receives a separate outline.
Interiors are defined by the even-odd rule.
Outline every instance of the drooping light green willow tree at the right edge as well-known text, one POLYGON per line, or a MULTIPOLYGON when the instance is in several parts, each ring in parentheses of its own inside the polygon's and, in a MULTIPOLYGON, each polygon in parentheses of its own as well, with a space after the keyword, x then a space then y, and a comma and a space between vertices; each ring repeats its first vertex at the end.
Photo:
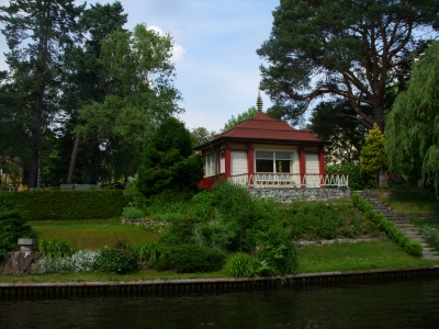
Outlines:
POLYGON ((413 66, 407 91, 395 100, 386 123, 390 168, 420 175, 439 196, 439 42, 413 66))

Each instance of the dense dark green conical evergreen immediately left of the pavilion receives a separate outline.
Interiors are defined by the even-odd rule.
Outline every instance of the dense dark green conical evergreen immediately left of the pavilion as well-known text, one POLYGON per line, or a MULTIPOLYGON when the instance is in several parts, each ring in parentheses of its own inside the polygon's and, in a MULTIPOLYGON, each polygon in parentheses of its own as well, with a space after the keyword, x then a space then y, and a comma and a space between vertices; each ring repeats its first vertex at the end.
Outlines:
POLYGON ((137 188, 147 197, 172 192, 196 192, 203 178, 203 160, 191 156, 192 140, 184 124, 167 118, 145 149, 137 188))

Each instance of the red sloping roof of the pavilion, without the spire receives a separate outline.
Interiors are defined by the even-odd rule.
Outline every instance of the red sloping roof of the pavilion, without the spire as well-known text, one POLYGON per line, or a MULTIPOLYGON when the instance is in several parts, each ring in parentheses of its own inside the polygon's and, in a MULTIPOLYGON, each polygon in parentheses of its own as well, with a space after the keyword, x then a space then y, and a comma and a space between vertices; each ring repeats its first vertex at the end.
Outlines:
POLYGON ((238 123, 233 129, 216 135, 213 141, 223 138, 239 139, 275 139, 297 141, 322 141, 309 133, 308 129, 294 129, 289 124, 269 117, 263 112, 258 112, 252 118, 238 123))

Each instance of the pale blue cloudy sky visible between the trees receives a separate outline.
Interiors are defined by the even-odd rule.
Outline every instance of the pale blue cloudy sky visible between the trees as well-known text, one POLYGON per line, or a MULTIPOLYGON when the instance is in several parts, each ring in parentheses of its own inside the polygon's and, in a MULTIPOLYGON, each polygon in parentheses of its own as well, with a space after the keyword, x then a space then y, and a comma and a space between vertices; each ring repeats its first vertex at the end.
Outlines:
MULTIPOLYGON (((0 0, 0 4, 9 1, 0 0)), ((114 1, 88 1, 88 3, 114 1)), ((261 64, 256 54, 270 37, 272 11, 279 0, 121 0, 128 14, 125 29, 136 24, 164 33, 175 41, 172 61, 181 91, 179 115, 189 129, 218 132, 239 113, 256 105, 261 64)), ((77 4, 83 1, 76 1, 77 4)), ((0 70, 8 69, 8 52, 0 34, 0 70)), ((261 92, 263 109, 270 107, 261 92)))

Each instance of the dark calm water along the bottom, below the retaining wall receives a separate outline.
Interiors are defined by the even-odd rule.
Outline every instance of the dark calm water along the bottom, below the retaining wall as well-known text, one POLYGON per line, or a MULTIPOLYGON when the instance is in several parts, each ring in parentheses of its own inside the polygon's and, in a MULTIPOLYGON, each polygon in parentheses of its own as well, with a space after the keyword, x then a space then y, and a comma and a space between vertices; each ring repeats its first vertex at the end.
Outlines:
POLYGON ((0 302, 0 328, 438 328, 439 281, 0 302))

